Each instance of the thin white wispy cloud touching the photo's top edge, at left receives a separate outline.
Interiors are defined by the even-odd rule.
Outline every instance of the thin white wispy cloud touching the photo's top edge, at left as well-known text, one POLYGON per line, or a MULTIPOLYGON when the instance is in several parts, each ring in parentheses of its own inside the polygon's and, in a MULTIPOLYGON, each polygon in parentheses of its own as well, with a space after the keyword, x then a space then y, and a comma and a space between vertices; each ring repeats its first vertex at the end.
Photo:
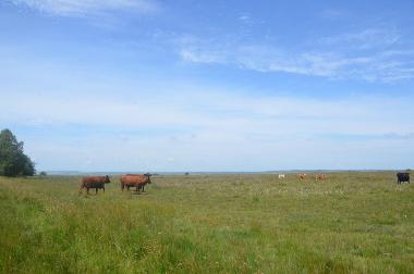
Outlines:
POLYGON ((9 0, 19 7, 26 7, 59 16, 97 16, 114 11, 154 12, 158 3, 154 0, 9 0))

